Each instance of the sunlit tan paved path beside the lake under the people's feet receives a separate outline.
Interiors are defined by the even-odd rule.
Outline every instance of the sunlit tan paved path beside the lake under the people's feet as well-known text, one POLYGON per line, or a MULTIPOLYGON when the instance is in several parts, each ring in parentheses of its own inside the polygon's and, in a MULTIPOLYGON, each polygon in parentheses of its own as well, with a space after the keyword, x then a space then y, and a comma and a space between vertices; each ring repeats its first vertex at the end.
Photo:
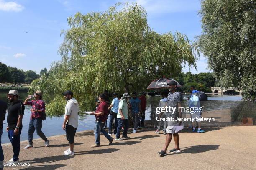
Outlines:
MULTIPOLYGON (((219 124, 218 124, 219 125, 219 124)), ((94 144, 92 131, 77 133, 75 155, 63 156, 68 144, 65 135, 49 137, 51 146, 44 147, 44 141, 34 140, 33 149, 22 149, 20 161, 29 162, 30 167, 5 169, 31 170, 242 170, 255 169, 256 126, 204 127, 206 133, 191 133, 184 128, 179 133, 181 153, 169 153, 159 157, 158 151, 164 145, 165 135, 155 134, 153 128, 145 128, 131 134, 130 140, 113 141, 101 135, 101 147, 94 144)), ((131 130, 130 130, 131 132, 131 130)), ((5 133, 4 133, 5 134, 5 133)), ((35 134, 36 135, 36 134, 35 134)), ((174 141, 169 149, 174 147, 174 141)), ((3 145, 5 161, 13 154, 11 145, 3 145)))

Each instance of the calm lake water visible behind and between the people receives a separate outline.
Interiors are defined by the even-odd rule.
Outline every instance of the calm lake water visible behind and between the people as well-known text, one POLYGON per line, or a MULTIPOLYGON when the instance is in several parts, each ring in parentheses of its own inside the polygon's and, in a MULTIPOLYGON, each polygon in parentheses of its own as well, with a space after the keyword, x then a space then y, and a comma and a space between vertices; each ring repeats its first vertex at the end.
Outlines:
MULTIPOLYGON (((8 92, 8 91, 7 91, 8 92)), ((6 93, 7 92, 0 92, 0 100, 4 100, 8 102, 6 93)), ((26 92, 21 92, 20 93, 20 100, 23 101, 28 94, 26 92)), ((186 97, 187 95, 184 95, 184 104, 186 105, 186 97)), ((155 97, 148 97, 148 102, 147 102, 147 107, 146 107, 146 117, 145 120, 150 119, 150 113, 151 113, 151 104, 153 107, 158 107, 158 103, 161 97, 155 96, 155 97), (152 101, 151 101, 152 100, 152 101)), ((229 96, 229 95, 208 95, 208 102, 205 103, 205 111, 206 110, 218 110, 218 109, 226 109, 230 107, 235 107, 238 105, 238 103, 241 101, 241 96, 240 95, 234 95, 234 96, 229 96)), ((22 128, 22 133, 21 133, 21 139, 20 140, 28 140, 27 137, 27 132, 28 132, 28 123, 30 120, 30 109, 31 106, 25 106, 25 113, 23 116, 23 128, 22 128)), ((7 113, 6 113, 7 117, 7 113)), ((53 117, 49 118, 47 117, 46 120, 43 121, 43 128, 42 131, 48 136, 53 136, 53 135, 61 135, 65 134, 65 131, 62 130, 61 126, 63 123, 63 117, 53 117)), ((77 132, 83 131, 83 130, 91 130, 94 128, 95 124, 95 116, 94 115, 87 115, 87 114, 80 114, 78 117, 78 128, 77 132)), ((107 123, 108 124, 108 123, 107 123)), ((2 135, 2 143, 10 143, 8 139, 8 133, 5 131, 7 126, 6 119, 3 122, 3 135, 2 135)), ((33 136, 34 139, 39 138, 39 136, 34 133, 33 136)), ((43 142, 43 140, 42 140, 43 142)))

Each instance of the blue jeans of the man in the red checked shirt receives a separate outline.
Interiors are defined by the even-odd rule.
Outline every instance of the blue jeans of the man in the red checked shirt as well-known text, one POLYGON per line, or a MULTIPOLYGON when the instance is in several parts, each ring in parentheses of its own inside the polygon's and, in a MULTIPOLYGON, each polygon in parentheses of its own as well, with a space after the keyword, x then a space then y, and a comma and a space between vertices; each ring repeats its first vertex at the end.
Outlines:
POLYGON ((42 132, 42 119, 32 119, 29 121, 28 125, 28 142, 30 145, 33 145, 33 134, 36 130, 38 136, 40 136, 44 141, 47 141, 44 133, 42 132))

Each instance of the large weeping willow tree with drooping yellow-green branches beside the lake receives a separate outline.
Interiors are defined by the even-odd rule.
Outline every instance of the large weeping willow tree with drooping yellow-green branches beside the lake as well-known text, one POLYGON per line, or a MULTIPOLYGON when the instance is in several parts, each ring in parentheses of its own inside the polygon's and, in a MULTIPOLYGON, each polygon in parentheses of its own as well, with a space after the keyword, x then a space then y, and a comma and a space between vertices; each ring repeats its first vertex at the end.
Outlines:
POLYGON ((76 13, 67 22, 70 29, 61 31, 62 60, 34 80, 30 89, 44 92, 48 115, 63 113, 65 90, 74 92, 82 110, 91 110, 105 89, 145 90, 158 77, 177 77, 186 63, 196 67, 197 53, 187 36, 154 32, 146 10, 137 4, 118 3, 103 13, 76 13))

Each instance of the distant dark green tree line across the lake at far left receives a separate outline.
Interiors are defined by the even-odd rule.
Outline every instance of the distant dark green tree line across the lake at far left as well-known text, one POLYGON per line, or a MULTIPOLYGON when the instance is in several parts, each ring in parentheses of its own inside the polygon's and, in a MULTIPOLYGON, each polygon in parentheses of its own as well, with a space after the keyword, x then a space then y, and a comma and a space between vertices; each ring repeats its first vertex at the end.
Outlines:
MULTIPOLYGON (((40 75, 47 73, 47 69, 44 68, 40 71, 40 75)), ((0 62, 0 82, 5 83, 27 83, 30 84, 33 80, 40 77, 35 71, 18 69, 16 67, 10 67, 0 62)))

